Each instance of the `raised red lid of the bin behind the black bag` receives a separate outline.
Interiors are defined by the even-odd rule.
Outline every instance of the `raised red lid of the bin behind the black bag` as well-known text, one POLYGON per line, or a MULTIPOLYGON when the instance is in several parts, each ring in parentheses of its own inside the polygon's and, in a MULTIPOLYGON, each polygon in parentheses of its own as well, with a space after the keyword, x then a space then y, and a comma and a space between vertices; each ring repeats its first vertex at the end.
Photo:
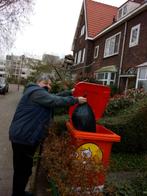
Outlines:
MULTIPOLYGON (((94 84, 89 82, 79 82, 75 85, 73 92, 74 97, 86 97, 88 104, 92 107, 95 114, 95 119, 99 120, 108 104, 110 99, 110 88, 100 84, 94 84)), ((72 117, 72 113, 77 105, 71 106, 69 109, 69 116, 72 117)))

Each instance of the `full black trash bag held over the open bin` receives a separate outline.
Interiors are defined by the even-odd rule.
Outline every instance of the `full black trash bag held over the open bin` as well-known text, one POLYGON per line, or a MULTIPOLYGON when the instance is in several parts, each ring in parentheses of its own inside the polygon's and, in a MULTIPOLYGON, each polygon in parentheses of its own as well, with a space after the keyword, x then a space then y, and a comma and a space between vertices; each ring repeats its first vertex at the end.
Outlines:
POLYGON ((96 132, 96 120, 89 104, 79 104, 72 114, 75 129, 86 132, 96 132))

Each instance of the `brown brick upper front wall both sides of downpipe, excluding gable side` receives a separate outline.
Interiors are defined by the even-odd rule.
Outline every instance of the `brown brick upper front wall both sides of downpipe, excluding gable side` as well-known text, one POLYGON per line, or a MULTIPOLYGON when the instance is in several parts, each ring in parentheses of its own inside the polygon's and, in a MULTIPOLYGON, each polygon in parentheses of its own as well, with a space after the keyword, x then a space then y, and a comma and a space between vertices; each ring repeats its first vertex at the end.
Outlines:
MULTIPOLYGON (((137 65, 147 61, 147 39, 146 39, 147 25, 146 25, 146 20, 144 20, 144 18, 147 18, 147 11, 144 11, 141 14, 134 17, 133 19, 127 21, 127 33, 125 38, 126 40, 125 40, 124 55, 122 61, 122 73, 125 72, 130 67, 136 67, 137 65), (134 47, 129 47, 131 28, 138 24, 141 24, 139 43, 134 47)), ((119 69, 121 54, 122 54, 122 44, 124 39, 124 29, 125 29, 125 23, 121 24, 116 29, 113 29, 107 34, 94 40, 93 49, 90 46, 91 49, 89 50, 91 50, 91 52, 94 53, 94 47, 99 45, 99 55, 98 58, 96 59, 93 58, 93 54, 90 54, 87 57, 89 58, 89 60, 87 60, 86 65, 88 65, 89 62, 93 63, 91 71, 95 71, 100 67, 109 66, 109 65, 115 65, 119 69), (106 39, 119 32, 121 32, 119 54, 104 58, 106 39)))

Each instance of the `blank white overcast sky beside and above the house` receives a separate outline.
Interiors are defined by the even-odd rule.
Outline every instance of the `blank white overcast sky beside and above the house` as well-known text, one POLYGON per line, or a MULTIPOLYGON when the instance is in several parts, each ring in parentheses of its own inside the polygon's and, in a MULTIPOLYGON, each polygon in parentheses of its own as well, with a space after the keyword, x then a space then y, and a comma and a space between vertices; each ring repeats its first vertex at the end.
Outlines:
MULTIPOLYGON (((126 2, 96 1, 118 7, 126 2)), ((64 57, 71 53, 82 2, 83 0, 36 0, 30 25, 17 34, 9 54, 41 57, 47 53, 64 57)))

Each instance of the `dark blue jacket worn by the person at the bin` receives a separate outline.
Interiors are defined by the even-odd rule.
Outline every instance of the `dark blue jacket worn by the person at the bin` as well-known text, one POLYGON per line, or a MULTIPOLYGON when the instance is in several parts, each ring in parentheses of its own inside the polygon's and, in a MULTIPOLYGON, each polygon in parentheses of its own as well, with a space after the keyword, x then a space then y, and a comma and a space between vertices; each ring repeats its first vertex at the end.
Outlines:
POLYGON ((14 143, 35 145, 45 136, 45 125, 53 119, 53 108, 70 106, 78 102, 67 92, 58 95, 48 93, 36 84, 29 85, 18 103, 9 129, 14 143), (64 97, 65 96, 65 97, 64 97))

